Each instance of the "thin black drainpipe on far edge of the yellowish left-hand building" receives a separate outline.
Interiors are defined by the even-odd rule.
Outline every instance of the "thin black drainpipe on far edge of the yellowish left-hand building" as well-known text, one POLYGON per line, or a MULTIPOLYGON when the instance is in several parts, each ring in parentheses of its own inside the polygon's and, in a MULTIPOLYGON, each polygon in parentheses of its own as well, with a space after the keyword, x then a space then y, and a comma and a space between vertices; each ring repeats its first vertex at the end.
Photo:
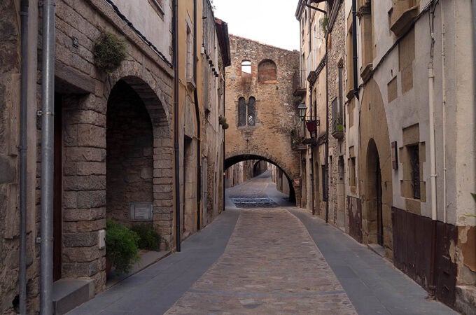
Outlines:
POLYGON ((197 94, 197 0, 193 0, 193 80, 195 80, 193 99, 195 102, 195 116, 197 118, 197 230, 200 230, 200 228, 202 228, 200 224, 200 200, 202 199, 202 158, 200 158, 200 142, 202 141, 202 125, 200 123, 200 106, 198 106, 197 94))

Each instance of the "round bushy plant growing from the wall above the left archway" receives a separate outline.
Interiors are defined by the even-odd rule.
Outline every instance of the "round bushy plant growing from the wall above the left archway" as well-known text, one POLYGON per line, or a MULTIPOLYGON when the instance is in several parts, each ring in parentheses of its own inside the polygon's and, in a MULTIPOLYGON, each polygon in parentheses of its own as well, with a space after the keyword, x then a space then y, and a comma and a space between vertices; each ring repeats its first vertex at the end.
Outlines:
POLYGON ((94 43, 92 48, 94 66, 106 73, 118 69, 127 54, 125 52, 125 38, 106 32, 102 38, 94 43))

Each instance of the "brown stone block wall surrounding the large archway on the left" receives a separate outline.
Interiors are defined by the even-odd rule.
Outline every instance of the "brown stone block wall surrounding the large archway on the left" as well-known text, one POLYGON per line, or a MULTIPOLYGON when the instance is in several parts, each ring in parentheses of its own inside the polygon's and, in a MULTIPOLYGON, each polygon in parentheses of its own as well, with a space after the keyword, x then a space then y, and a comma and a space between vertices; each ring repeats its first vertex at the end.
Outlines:
MULTIPOLYGON (((99 0, 57 1, 55 59, 55 91, 74 101, 71 106, 65 104, 63 111, 62 276, 94 279, 99 292, 106 281, 105 250, 97 244, 106 217, 106 111, 109 94, 120 79, 139 95, 150 116, 153 179, 148 181, 153 181, 153 221, 165 245, 173 244, 172 69, 113 8, 99 0), (107 75, 94 67, 92 56, 102 31, 125 36, 126 43, 127 58, 107 75), (73 47, 71 36, 78 38, 78 48, 73 47)), ((41 119, 37 121, 39 134, 41 119)), ((40 139, 37 146, 41 150, 40 139)), ((38 183, 40 162, 38 156, 38 183)), ((127 172, 126 167, 123 171, 127 172)), ((36 195, 39 214, 39 186, 36 195)), ((38 216, 36 220, 39 230, 38 216)), ((36 246, 36 258, 29 258, 34 260, 33 271, 29 270, 31 294, 38 290, 38 251, 36 246)), ((37 309, 37 305, 32 308, 37 309)))

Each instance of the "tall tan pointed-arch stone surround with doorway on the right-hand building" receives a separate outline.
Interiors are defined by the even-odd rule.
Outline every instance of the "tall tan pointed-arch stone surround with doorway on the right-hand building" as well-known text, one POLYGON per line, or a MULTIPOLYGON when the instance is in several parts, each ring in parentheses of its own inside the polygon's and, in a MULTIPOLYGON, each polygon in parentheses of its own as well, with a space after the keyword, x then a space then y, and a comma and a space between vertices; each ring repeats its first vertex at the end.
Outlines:
POLYGON ((359 122, 358 185, 362 200, 363 243, 381 244, 386 256, 392 258, 390 140, 384 102, 373 79, 365 85, 359 122))

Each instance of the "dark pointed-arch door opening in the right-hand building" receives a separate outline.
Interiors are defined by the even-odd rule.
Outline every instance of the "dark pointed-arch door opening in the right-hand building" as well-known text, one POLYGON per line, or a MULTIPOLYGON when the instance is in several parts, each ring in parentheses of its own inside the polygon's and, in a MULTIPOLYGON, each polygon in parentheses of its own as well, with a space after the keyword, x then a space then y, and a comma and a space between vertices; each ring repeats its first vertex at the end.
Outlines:
POLYGON ((374 139, 367 146, 367 231, 368 242, 384 246, 384 225, 381 212, 381 169, 379 151, 374 139))

